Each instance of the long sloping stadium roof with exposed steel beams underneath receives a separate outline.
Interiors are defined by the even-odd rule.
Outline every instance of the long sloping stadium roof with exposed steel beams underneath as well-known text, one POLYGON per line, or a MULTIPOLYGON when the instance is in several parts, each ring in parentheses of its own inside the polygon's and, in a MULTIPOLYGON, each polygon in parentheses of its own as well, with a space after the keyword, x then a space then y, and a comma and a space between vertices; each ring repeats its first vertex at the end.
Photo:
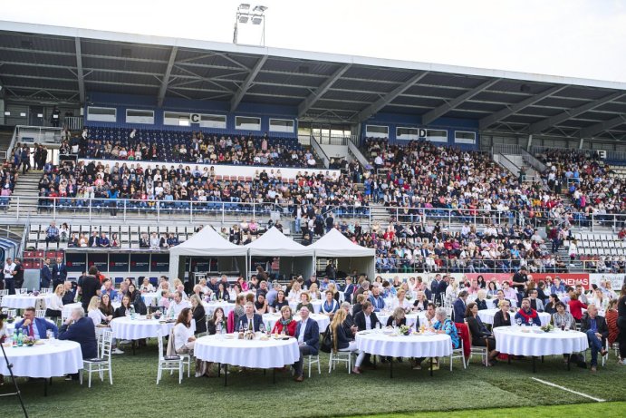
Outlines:
POLYGON ((0 21, 7 100, 90 92, 291 106, 300 121, 379 112, 478 122, 481 131, 626 139, 626 83, 0 21))

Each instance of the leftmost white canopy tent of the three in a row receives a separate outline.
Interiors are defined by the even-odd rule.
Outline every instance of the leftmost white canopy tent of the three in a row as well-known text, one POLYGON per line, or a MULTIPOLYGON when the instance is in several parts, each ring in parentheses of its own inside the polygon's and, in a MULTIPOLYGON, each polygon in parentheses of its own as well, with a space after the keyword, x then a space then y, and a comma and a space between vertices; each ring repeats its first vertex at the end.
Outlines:
MULTIPOLYGON (((247 248, 237 246, 226 240, 210 226, 200 229, 193 237, 169 250, 169 281, 176 277, 182 279, 179 265, 181 257, 215 257, 218 258, 219 268, 222 271, 247 271, 247 248)), ((185 263, 182 263, 184 269, 185 263)))

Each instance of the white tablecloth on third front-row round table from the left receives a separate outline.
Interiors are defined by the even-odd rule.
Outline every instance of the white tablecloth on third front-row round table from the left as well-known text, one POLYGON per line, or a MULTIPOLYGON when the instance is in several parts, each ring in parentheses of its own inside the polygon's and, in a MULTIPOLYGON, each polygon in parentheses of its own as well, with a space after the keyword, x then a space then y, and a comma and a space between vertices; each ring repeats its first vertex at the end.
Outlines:
POLYGON ((391 357, 444 357, 452 353, 452 340, 447 334, 385 335, 361 331, 356 334, 356 346, 371 355, 391 357))

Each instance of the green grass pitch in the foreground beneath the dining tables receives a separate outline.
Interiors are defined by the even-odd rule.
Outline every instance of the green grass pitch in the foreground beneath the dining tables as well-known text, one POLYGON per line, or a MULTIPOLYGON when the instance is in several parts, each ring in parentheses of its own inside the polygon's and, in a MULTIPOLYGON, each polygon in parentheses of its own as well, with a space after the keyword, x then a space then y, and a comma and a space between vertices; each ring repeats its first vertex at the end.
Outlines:
MULTIPOLYGON (((4 361, 4 359, 3 359, 4 361)), ((322 355, 322 374, 294 383, 291 374, 254 370, 233 370, 228 386, 217 378, 191 378, 178 385, 178 377, 166 375, 156 385, 156 342, 137 355, 130 349, 113 357, 113 385, 97 380, 87 388, 77 382, 56 378, 43 397, 43 383, 19 379, 28 413, 32 417, 109 416, 124 411, 136 416, 224 416, 250 417, 263 413, 272 417, 294 416, 624 416, 626 367, 617 365, 614 352, 598 373, 575 366, 567 371, 560 356, 546 357, 532 373, 530 360, 495 367, 478 365, 477 357, 463 370, 456 360, 454 371, 442 367, 430 377, 427 370, 411 370, 405 361, 394 365, 390 379, 388 365, 361 375, 347 374, 342 366, 328 374, 328 356, 322 355), (340 368, 341 367, 341 368, 340 368), (601 398, 596 403, 583 396, 535 382, 536 377, 573 391, 601 398), (568 405, 556 407, 550 405, 568 405), (526 408, 529 407, 529 408, 526 408), (515 408, 515 409, 505 409, 515 408), (593 408, 593 409, 590 409, 593 408), (480 411, 468 411, 480 410, 480 411), (455 413, 448 413, 454 411, 455 413), (597 414, 595 413, 597 411, 597 414), (400 413, 400 414, 398 414, 400 413)), ((10 390, 9 382, 0 388, 10 390)), ((2 417, 21 416, 16 398, 0 398, 2 417)))

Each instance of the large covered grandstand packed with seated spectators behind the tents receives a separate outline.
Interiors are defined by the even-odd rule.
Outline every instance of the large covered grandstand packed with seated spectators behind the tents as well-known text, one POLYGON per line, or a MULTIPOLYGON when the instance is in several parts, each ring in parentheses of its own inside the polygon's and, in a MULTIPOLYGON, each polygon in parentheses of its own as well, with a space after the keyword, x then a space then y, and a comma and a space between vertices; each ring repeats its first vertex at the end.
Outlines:
POLYGON ((0 218, 35 271, 165 268, 207 224, 338 228, 380 273, 624 271, 621 83, 3 28, 0 218))

